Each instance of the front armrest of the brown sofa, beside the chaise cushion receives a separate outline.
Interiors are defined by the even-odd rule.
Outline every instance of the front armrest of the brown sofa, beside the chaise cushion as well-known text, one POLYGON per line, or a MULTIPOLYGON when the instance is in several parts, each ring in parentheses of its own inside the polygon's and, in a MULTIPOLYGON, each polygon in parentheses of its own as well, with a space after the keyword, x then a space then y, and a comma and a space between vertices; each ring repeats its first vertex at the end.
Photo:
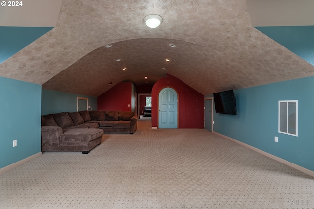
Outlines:
POLYGON ((59 139, 62 134, 62 128, 59 126, 42 126, 41 150, 59 151, 59 139))

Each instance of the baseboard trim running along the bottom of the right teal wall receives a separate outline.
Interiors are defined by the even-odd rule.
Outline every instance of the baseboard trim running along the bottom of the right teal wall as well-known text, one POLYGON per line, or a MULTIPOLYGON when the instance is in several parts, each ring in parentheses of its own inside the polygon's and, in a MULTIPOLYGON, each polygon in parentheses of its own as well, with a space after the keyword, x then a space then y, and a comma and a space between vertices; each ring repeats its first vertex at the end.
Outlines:
POLYGON ((243 143, 243 142, 241 142, 241 141, 238 141, 238 140, 236 140, 236 139, 227 137, 227 136, 222 135, 222 134, 220 134, 220 133, 217 133, 217 132, 215 132, 215 131, 214 131, 213 133, 214 133, 214 134, 217 134, 217 135, 219 135, 219 136, 221 136, 221 137, 223 137, 223 138, 225 138, 225 139, 232 140, 232 141, 234 141, 234 142, 236 142, 236 143, 238 143, 238 144, 241 144, 242 146, 245 146, 245 147, 247 147, 247 148, 249 148, 249 149, 252 149, 252 150, 254 150, 254 151, 256 151, 256 152, 258 152, 258 153, 260 153, 260 154, 262 154, 262 155, 265 155, 265 156, 267 156, 267 157, 269 157, 269 158, 271 158, 271 159, 273 159, 273 160, 275 160, 275 161, 278 161, 278 162, 280 162, 280 163, 284 163, 284 164, 286 164, 286 165, 288 165, 288 166, 290 166, 290 167, 292 167, 292 168, 294 168, 294 169, 296 169, 296 170, 299 170, 299 171, 301 171, 301 172, 303 172, 303 173, 306 173, 306 174, 308 174, 308 175, 314 177, 314 171, 312 171, 312 170, 306 169, 306 168, 304 168, 304 167, 301 167, 300 165, 297 165, 297 164, 291 163, 291 162, 289 162, 289 161, 286 161, 286 160, 284 160, 284 159, 282 159, 282 158, 279 158, 279 157, 277 157, 277 156, 275 156, 275 155, 269 154, 268 152, 262 151, 262 150, 260 150, 260 149, 258 149, 258 148, 256 148, 256 147, 253 147, 253 146, 251 146, 251 145, 248 145, 248 144, 243 143))

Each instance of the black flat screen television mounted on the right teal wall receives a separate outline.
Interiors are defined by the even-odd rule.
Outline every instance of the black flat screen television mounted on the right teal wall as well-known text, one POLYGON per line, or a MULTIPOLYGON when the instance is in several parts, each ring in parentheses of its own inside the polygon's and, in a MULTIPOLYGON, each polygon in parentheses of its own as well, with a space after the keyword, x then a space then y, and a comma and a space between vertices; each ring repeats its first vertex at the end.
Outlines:
POLYGON ((216 113, 236 115, 235 96, 233 90, 214 93, 216 113))

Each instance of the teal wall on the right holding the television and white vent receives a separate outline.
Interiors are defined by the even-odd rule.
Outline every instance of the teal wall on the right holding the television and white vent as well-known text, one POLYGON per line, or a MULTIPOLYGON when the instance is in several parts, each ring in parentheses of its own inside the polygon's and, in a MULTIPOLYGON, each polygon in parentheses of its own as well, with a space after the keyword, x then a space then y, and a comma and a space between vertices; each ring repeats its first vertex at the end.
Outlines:
POLYGON ((235 90, 237 115, 214 111, 214 131, 314 171, 314 77, 235 90), (278 101, 298 100, 298 137, 278 133, 278 101), (278 143, 274 137, 278 137, 278 143))

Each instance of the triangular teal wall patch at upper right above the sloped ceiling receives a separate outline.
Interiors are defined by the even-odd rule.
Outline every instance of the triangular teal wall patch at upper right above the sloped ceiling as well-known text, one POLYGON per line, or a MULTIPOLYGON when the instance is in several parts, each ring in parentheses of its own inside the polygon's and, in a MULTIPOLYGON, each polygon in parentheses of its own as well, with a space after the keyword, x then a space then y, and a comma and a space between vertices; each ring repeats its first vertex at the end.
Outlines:
POLYGON ((314 65, 314 26, 256 27, 256 29, 314 65))

